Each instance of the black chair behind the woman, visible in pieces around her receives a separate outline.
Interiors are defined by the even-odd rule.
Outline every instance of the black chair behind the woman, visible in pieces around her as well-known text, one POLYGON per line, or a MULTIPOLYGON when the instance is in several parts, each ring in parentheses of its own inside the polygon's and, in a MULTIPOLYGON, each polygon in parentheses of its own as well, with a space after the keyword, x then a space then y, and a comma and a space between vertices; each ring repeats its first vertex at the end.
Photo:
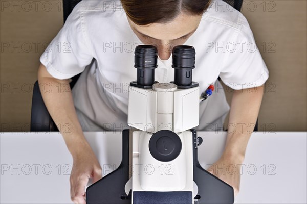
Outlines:
MULTIPOLYGON (((81 0, 63 0, 63 12, 64 12, 64 23, 72 12, 73 8, 80 2, 81 0)), ((86 0, 85 0, 86 1, 86 0)), ((236 10, 240 11, 242 7, 243 0, 224 0, 224 2, 231 5, 236 10)), ((80 74, 74 76, 70 83, 71 89, 77 82, 80 74)), ((255 130, 258 129, 257 123, 255 126, 255 130)), ((38 81, 35 82, 33 87, 33 96, 32 96, 32 109, 31 109, 31 126, 30 130, 33 132, 49 132, 49 131, 58 131, 56 124, 52 120, 45 103, 43 103, 43 99, 39 90, 38 81)))

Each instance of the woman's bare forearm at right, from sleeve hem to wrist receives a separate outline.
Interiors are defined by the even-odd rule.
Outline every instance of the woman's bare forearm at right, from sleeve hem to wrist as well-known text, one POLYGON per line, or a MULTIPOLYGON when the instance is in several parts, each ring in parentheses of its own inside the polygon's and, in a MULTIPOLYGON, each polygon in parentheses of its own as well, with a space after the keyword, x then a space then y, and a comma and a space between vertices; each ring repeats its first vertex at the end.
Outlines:
POLYGON ((263 86, 234 91, 224 156, 243 162, 258 117, 263 91, 263 86))

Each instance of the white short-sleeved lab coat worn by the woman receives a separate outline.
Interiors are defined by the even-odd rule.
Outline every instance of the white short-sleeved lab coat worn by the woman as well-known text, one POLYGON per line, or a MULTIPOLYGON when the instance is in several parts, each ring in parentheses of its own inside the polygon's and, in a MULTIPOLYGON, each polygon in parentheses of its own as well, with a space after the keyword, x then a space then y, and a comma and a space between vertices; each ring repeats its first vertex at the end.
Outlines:
MULTIPOLYGON (((214 1, 185 45, 196 50, 193 81, 201 93, 215 84, 213 94, 200 104, 196 130, 221 130, 229 111, 218 76, 233 89, 260 86, 269 77, 246 18, 214 1)), ((128 128, 129 82, 136 80, 134 49, 142 44, 131 30, 120 2, 81 1, 40 61, 57 79, 81 73, 73 88, 78 119, 84 131, 128 128), (62 46, 59 50, 59 46, 62 46)), ((173 81, 171 58, 158 59, 155 80, 173 81)))

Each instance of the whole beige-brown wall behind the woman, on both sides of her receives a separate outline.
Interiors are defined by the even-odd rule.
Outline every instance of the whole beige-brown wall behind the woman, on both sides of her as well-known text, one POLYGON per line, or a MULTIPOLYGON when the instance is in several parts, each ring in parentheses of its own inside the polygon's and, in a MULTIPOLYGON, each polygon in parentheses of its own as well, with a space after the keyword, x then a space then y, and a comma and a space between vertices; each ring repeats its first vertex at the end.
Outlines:
MULTIPOLYGON (((31 9, 24 1, 0 2, 0 130, 29 131, 31 89, 39 57, 62 26, 61 1, 39 1, 37 8, 27 1, 31 9)), ((245 1, 242 12, 270 71, 260 129, 306 131, 306 1, 245 1)))

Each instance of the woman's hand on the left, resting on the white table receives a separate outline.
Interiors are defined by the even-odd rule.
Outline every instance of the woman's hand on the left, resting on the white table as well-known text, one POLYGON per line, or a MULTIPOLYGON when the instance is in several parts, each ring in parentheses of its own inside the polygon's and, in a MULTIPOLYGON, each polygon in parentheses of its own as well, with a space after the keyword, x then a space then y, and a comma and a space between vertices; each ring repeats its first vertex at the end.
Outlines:
POLYGON ((74 203, 85 202, 85 186, 89 178, 97 182, 102 177, 101 166, 89 145, 79 148, 80 150, 73 154, 73 168, 70 175, 71 200, 74 203))

